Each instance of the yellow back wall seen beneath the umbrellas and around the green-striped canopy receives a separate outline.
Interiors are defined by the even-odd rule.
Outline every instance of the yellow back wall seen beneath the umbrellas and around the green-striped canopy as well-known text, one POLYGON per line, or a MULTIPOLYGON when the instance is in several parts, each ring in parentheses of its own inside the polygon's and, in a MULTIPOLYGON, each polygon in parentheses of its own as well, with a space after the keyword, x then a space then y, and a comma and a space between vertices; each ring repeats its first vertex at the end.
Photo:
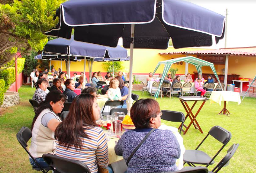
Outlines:
MULTIPOLYGON (((186 55, 159 55, 159 53, 163 52, 179 52, 179 51, 193 51, 193 50, 202 50, 198 48, 182 48, 182 49, 174 49, 173 47, 169 47, 165 50, 160 49, 134 49, 133 51, 133 73, 135 74, 148 74, 149 72, 153 72, 157 63, 159 61, 169 60, 171 58, 178 58, 178 57, 184 57, 186 55)), ((130 49, 128 49, 128 55, 130 55, 130 49)), ((58 69, 61 67, 60 61, 52 61, 52 65, 54 65, 55 69, 58 69)), ((94 62, 92 67, 92 72, 106 72, 105 69, 102 67, 103 62, 94 62)), ((123 62, 123 72, 128 73, 129 72, 129 61, 123 62)), ((193 65, 189 65, 189 71, 193 72, 196 71, 193 65)), ((178 68, 179 71, 177 74, 184 74, 185 73, 185 63, 183 65, 177 65, 173 64, 172 68, 178 68)), ((70 64, 70 72, 72 75, 72 72, 82 72, 84 68, 84 60, 81 60, 81 62, 71 62, 70 64)), ((164 69, 164 65, 162 67, 159 67, 156 73, 162 73, 164 69)), ((62 71, 67 71, 65 62, 62 62, 62 71)), ((88 64, 86 64, 86 71, 88 72, 88 64)))

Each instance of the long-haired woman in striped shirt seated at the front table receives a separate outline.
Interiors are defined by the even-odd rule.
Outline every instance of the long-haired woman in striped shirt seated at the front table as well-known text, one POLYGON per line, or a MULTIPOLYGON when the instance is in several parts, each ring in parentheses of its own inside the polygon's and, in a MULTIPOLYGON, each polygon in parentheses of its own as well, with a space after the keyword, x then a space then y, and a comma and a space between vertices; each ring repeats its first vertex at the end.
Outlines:
POLYGON ((80 94, 71 104, 69 115, 55 131, 56 155, 87 164, 91 173, 108 167, 106 135, 97 126, 100 108, 93 95, 80 94), (86 104, 85 104, 86 103, 86 104))

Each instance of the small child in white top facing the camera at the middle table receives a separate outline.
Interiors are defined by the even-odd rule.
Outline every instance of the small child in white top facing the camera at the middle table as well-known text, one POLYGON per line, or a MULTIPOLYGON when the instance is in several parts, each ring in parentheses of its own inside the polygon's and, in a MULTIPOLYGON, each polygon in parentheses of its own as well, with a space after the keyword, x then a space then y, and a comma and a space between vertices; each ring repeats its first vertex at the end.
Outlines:
POLYGON ((112 80, 110 82, 110 86, 108 88, 108 99, 109 100, 111 100, 111 101, 114 101, 114 100, 121 101, 122 100, 122 95, 121 95, 121 92, 120 92, 120 89, 118 86, 119 86, 119 81, 112 80))

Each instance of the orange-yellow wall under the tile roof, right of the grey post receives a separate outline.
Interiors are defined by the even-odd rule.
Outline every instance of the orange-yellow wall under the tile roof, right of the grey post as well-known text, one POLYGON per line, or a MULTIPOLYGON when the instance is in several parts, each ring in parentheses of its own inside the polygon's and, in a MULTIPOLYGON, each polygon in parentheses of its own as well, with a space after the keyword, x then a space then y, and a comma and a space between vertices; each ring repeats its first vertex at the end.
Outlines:
POLYGON ((240 74, 240 78, 254 78, 256 75, 256 57, 229 56, 229 74, 240 74))

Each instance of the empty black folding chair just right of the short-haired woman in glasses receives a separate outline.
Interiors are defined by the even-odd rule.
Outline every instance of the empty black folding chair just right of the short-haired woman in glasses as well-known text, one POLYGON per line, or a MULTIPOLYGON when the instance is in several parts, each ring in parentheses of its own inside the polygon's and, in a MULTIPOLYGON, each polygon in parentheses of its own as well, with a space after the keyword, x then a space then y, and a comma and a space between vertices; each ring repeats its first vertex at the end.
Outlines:
POLYGON ((180 134, 182 131, 182 127, 185 121, 185 115, 182 112, 176 112, 176 111, 168 111, 168 110, 161 110, 162 111, 162 120, 171 121, 171 122, 181 122, 181 125, 179 127, 180 134))

